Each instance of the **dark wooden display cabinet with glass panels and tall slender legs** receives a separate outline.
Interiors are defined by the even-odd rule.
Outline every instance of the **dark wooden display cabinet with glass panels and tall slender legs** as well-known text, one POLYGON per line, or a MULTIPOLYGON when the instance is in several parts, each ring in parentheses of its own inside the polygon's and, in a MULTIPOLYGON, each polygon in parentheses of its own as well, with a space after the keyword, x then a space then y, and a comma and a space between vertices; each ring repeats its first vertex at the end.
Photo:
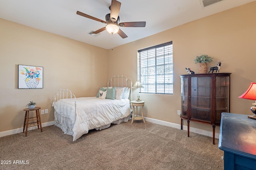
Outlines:
POLYGON ((222 112, 230 111, 230 74, 186 74, 181 78, 181 129, 182 121, 212 125, 215 144, 215 127, 220 126, 222 112))

